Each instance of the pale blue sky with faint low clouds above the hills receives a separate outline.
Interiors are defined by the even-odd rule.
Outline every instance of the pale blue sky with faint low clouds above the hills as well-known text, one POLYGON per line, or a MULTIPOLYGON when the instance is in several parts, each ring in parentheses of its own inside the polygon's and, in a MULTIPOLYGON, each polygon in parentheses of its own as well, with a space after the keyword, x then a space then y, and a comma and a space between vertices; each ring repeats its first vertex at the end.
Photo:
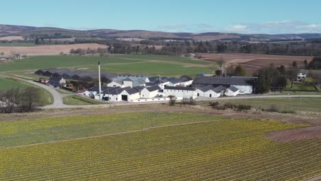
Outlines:
POLYGON ((163 32, 321 33, 320 0, 1 1, 0 24, 163 32))

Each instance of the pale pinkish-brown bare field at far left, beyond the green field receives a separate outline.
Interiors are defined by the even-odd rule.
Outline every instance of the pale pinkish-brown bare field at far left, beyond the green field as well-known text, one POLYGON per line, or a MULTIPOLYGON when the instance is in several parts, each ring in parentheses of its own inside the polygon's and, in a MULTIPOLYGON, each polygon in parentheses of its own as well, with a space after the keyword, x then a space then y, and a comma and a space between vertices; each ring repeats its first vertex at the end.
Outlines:
POLYGON ((0 47, 0 52, 4 52, 6 55, 10 55, 11 51, 15 51, 20 54, 27 54, 27 56, 53 56, 59 55, 60 52, 69 53, 71 49, 97 49, 106 47, 106 45, 99 45, 97 43, 39 45, 34 47, 0 47))

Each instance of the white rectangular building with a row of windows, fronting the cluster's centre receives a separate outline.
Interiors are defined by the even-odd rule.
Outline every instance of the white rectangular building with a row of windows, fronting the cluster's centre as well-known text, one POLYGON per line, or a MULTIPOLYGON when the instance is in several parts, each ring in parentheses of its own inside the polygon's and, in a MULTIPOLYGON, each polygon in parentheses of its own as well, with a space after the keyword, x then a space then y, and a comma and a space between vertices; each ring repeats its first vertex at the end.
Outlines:
POLYGON ((178 86, 166 86, 164 88, 165 96, 174 96, 182 98, 196 99, 198 97, 198 91, 193 87, 178 87, 178 86))

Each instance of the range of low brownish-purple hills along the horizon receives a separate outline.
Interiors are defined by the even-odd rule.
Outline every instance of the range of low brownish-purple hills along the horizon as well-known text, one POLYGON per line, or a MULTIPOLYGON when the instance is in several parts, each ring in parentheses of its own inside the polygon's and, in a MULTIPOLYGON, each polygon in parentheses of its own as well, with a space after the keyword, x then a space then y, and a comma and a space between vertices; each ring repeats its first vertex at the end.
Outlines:
POLYGON ((75 30, 58 27, 31 27, 0 25, 0 37, 22 36, 23 38, 158 38, 176 40, 239 40, 250 42, 275 42, 321 38, 321 34, 231 34, 219 32, 153 32, 146 30, 93 29, 75 30))

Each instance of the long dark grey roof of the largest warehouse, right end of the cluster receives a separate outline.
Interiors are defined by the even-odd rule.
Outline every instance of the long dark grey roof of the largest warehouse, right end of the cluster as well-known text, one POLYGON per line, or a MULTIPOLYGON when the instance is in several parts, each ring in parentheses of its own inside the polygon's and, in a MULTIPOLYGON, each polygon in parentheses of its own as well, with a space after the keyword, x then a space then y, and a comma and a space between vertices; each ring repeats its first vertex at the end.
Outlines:
POLYGON ((257 77, 196 77, 193 84, 252 86, 257 77))

